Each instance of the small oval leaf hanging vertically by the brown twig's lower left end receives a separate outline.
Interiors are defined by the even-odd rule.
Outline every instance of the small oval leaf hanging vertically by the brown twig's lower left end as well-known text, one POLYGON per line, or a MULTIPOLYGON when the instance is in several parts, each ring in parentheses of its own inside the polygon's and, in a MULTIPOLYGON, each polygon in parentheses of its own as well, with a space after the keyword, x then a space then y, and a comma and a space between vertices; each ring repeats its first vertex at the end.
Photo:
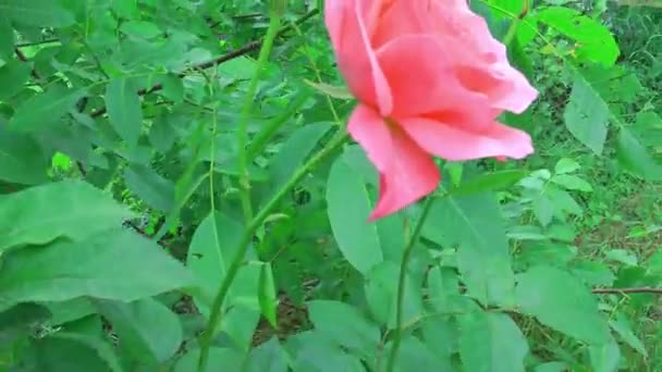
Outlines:
POLYGON ((130 145, 135 146, 143 127, 140 98, 127 78, 114 78, 106 88, 108 119, 115 132, 130 145))

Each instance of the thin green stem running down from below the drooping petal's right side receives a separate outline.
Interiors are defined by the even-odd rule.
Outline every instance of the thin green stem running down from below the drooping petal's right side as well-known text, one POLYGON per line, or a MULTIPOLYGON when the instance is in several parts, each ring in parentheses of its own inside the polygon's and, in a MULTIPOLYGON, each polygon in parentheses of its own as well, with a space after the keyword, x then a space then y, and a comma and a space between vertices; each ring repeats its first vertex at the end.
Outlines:
POLYGON ((403 318, 404 318, 404 302, 405 302, 405 280, 407 276, 407 265, 409 264, 409 259, 412 258, 412 252, 414 251, 414 247, 418 241, 418 237, 420 236, 420 231, 426 220, 428 219, 428 214, 430 213, 430 208, 432 207, 432 201, 434 200, 433 196, 429 196, 426 200, 422 212, 420 213, 420 218, 416 223, 416 227, 414 227, 414 233, 412 234, 412 238, 409 243, 405 247, 405 251, 402 253, 402 261, 400 262, 400 277, 397 278, 397 305, 395 312, 395 328, 393 330, 393 347, 391 348, 391 355, 389 356, 389 363, 387 364, 387 372, 392 372, 395 368, 395 359, 397 358, 397 351, 400 350, 400 344, 402 342, 402 328, 403 328, 403 318))

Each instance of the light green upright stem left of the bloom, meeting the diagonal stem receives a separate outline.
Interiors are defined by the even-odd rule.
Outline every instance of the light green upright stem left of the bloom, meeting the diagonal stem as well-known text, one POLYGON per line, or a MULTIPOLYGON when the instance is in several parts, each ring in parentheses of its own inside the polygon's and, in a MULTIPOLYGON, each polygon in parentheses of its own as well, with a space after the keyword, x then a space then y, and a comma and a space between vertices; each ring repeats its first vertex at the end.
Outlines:
POLYGON ((248 142, 248 135, 246 132, 248 127, 248 116, 250 115, 250 110, 253 109, 255 92, 257 90, 257 85, 260 82, 261 72, 265 70, 267 61, 269 60, 269 54, 271 53, 271 48, 273 47, 273 40, 279 33, 280 24, 281 18, 278 12, 272 11, 271 20, 269 21, 269 28, 267 29, 267 36, 265 37, 265 42, 262 44, 259 57, 257 59, 256 71, 248 85, 248 91, 246 92, 246 98, 244 100, 244 107, 242 109, 242 116, 237 131, 237 141, 240 146, 237 156, 240 198, 242 200, 242 209, 244 210, 244 220, 246 224, 253 220, 253 207, 250 206, 250 183, 246 172, 246 144, 248 142))

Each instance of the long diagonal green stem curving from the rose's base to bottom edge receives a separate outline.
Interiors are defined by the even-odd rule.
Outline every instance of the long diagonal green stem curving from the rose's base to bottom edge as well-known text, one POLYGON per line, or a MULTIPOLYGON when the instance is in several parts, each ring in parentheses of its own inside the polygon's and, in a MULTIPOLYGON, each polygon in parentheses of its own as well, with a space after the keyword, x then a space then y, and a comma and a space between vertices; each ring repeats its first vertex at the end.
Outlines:
POLYGON ((255 231, 261 226, 265 220, 271 214, 272 210, 280 203, 280 201, 289 195, 289 193, 296 186, 311 169, 317 166, 319 162, 324 160, 328 156, 332 154, 338 148, 340 148, 346 140, 347 134, 344 131, 339 132, 330 141, 315 154, 308 162, 306 162, 298 171, 287 181, 285 185, 269 200, 269 202, 258 212, 258 214, 253 219, 253 221, 246 226, 244 235, 242 236, 242 240, 240 246, 236 248, 236 255, 232 259, 230 263, 230 268, 228 268, 228 272, 221 282, 221 286, 213 298, 213 303, 211 305, 211 314, 209 315, 209 324, 207 328, 200 336, 200 359, 198 360, 198 372, 205 371, 207 368, 207 359, 209 357, 209 347, 211 345, 211 338, 216 334, 218 326, 221 323, 222 317, 222 307, 225 296, 228 295, 228 290, 230 289, 230 285, 234 281, 240 268, 244 263, 244 258, 246 256, 246 250, 248 249, 248 245, 253 239, 253 235, 255 231))

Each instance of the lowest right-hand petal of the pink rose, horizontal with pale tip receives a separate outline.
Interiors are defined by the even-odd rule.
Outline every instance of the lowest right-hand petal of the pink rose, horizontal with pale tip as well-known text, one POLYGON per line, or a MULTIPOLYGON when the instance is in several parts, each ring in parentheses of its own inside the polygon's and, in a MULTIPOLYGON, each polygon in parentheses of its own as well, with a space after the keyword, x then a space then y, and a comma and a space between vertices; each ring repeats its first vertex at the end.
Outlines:
POLYGON ((522 159, 534 152, 526 132, 497 122, 491 122, 482 133, 463 131, 463 123, 442 123, 426 117, 408 117, 399 123, 425 151, 451 161, 522 159))

